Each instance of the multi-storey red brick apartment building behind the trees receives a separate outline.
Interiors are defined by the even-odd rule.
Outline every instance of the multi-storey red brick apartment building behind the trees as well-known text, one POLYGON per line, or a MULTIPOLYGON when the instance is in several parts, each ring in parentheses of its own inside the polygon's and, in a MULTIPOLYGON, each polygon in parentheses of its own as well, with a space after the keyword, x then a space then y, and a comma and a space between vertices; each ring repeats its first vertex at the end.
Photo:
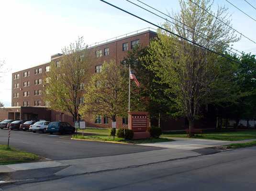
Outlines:
MULTIPOLYGON (((92 57, 90 58, 93 69, 91 73, 99 72, 104 61, 115 60, 120 63, 127 56, 128 50, 133 49, 136 44, 148 46, 154 37, 156 32, 148 28, 90 45, 88 50, 92 57)), ((51 61, 58 64, 61 56, 62 54, 59 53, 52 55, 51 61)), ((42 98, 47 72, 50 72, 50 61, 12 73, 11 107, 0 110, 0 120, 44 119, 74 124, 68 113, 47 109, 48 104, 42 98)), ((111 125, 111 121, 103 116, 98 116, 96 120, 85 119, 85 121, 89 127, 110 127, 111 125)), ((117 127, 122 127, 122 124, 127 124, 127 119, 117 119, 117 127)))

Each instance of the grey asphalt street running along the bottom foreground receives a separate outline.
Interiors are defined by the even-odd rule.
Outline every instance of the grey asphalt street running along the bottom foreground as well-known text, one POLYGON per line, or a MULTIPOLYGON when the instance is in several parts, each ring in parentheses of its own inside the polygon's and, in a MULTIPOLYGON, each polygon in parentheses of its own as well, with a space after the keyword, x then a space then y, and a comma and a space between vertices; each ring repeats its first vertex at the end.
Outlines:
POLYGON ((63 179, 3 191, 256 191, 256 147, 63 179))

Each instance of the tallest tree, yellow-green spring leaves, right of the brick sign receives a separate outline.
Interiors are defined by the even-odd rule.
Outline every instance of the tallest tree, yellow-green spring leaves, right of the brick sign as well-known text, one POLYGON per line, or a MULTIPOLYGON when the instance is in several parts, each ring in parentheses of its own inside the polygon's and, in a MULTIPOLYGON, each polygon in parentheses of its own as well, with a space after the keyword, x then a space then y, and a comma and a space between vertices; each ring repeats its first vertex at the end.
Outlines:
MULTIPOLYGON (((165 29, 219 52, 239 40, 234 31, 192 2, 179 2, 181 10, 174 14, 174 17, 186 26, 178 27, 178 21, 175 21, 177 25, 166 22, 163 24, 165 29), (202 37, 201 33, 207 34, 208 37, 202 37), (221 43, 214 43, 213 40, 219 40, 221 43)), ((210 0, 196 2, 211 12, 210 0)), ((215 15, 225 23, 231 22, 227 9, 223 7, 219 7, 215 15)), ((207 103, 211 92, 216 88, 215 82, 221 81, 223 77, 218 56, 165 30, 158 30, 158 40, 151 41, 148 52, 148 60, 151 63, 148 68, 160 79, 160 83, 168 85, 167 91, 174 95, 172 101, 175 103, 173 107, 177 110, 177 116, 186 116, 189 129, 193 128, 195 120, 200 117, 200 107, 207 103)))

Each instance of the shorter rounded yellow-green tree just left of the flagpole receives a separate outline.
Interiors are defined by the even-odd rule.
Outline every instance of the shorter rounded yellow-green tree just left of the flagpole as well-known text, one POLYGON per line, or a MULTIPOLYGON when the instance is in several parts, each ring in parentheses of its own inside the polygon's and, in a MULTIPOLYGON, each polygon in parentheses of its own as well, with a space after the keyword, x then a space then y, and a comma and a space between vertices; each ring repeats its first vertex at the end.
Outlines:
POLYGON ((126 116, 128 79, 124 77, 124 73, 127 72, 127 69, 113 60, 104 62, 102 71, 95 73, 89 81, 79 113, 82 116, 104 115, 113 122, 118 116, 126 116))

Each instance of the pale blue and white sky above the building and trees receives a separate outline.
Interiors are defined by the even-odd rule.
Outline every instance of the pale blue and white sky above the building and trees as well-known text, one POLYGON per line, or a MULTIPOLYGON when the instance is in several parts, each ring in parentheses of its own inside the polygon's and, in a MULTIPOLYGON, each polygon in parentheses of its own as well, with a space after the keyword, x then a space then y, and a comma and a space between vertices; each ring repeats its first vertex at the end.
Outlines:
MULTIPOLYGON (((155 23, 163 20, 134 7, 125 0, 108 0, 155 23)), ((135 2, 135 0, 132 0, 135 2)), ((256 10, 244 0, 231 0, 256 18, 256 10)), ((256 0, 248 0, 256 6, 256 0)), ((178 0, 144 0, 163 12, 178 11, 178 0)), ((233 27, 256 40, 256 22, 247 18, 225 0, 215 0, 213 10, 225 5, 232 14, 233 27)), ((11 73, 50 60, 52 54, 84 36, 91 44, 134 30, 152 27, 100 0, 5 0, 0 5, 0 60, 10 70, 0 79, 0 101, 11 106, 11 73)), ((155 27, 154 27, 155 28, 155 27)), ((256 46, 242 38, 234 48, 256 53, 256 46)))

